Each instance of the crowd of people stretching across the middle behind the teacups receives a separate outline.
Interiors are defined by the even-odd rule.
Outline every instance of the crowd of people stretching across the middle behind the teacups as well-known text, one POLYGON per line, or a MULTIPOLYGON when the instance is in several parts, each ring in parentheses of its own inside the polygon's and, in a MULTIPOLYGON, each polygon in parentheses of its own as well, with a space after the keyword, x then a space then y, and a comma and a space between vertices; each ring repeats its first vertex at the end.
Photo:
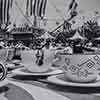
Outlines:
POLYGON ((66 43, 57 43, 56 41, 51 41, 50 39, 46 39, 45 41, 39 42, 38 45, 34 43, 30 43, 28 46, 24 44, 22 41, 14 42, 0 42, 0 49, 8 50, 8 58, 11 59, 19 59, 21 60, 21 50, 34 50, 36 51, 36 63, 38 65, 43 64, 44 52, 45 50, 54 50, 55 55, 57 53, 65 53, 65 54, 90 54, 97 53, 98 50, 100 53, 100 45, 93 46, 93 42, 85 42, 80 39, 76 39, 73 41, 68 41, 66 43))

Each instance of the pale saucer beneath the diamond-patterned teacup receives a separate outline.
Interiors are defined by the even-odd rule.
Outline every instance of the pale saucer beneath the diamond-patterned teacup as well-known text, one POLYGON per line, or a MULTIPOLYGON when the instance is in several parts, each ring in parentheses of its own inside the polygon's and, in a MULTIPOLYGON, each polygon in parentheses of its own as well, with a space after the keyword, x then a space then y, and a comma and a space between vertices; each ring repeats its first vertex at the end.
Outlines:
POLYGON ((72 86, 72 87, 100 87, 100 76, 94 82, 89 83, 76 83, 67 80, 64 74, 54 75, 47 78, 48 83, 59 86, 72 86))

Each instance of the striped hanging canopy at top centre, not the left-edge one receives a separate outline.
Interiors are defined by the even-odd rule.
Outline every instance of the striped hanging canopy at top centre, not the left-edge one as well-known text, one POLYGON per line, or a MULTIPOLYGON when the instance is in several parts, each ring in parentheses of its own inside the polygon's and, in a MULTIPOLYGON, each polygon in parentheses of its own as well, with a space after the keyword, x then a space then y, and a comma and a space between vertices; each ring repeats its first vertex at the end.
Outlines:
POLYGON ((45 15, 47 0, 27 0, 26 14, 43 17, 45 15))

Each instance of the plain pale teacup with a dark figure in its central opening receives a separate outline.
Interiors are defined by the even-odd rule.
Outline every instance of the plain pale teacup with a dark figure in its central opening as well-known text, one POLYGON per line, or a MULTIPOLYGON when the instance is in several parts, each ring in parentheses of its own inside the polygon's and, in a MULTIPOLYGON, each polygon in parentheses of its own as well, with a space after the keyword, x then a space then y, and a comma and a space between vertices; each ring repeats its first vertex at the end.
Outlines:
POLYGON ((35 50, 24 50, 21 51, 22 63, 25 68, 31 72, 45 72, 51 67, 51 62, 54 57, 54 51, 45 50, 43 65, 38 66, 36 64, 36 51, 35 50))

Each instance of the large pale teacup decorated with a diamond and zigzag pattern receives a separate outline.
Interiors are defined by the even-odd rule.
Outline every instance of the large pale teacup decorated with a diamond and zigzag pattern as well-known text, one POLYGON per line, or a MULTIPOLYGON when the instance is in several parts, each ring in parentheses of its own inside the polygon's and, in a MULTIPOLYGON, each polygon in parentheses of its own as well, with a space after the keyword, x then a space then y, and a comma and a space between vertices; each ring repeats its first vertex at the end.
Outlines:
POLYGON ((59 54, 60 67, 65 78, 73 82, 92 82, 100 70, 100 55, 96 54, 59 54))

